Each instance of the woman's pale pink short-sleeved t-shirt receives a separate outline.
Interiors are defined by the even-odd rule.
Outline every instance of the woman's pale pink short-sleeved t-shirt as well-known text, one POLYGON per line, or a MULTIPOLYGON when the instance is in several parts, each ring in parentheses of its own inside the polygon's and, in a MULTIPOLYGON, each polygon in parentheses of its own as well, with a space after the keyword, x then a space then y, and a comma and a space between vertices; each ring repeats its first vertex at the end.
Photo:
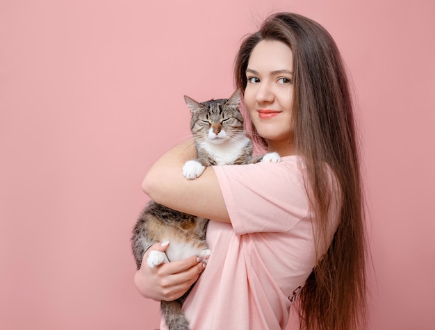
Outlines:
MULTIPOLYGON (((190 327, 284 329, 317 263, 302 158, 213 168, 231 224, 208 224, 211 256, 183 304, 190 327)), ((332 215, 328 245, 337 218, 332 215)))

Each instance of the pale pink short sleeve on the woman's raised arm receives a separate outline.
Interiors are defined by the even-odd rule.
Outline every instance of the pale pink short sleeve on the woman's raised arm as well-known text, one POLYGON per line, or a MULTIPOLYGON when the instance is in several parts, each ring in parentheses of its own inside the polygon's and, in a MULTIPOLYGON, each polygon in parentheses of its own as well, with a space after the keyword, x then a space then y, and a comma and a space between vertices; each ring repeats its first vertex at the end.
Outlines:
POLYGON ((213 166, 237 235, 286 232, 308 214, 299 156, 281 163, 213 166))

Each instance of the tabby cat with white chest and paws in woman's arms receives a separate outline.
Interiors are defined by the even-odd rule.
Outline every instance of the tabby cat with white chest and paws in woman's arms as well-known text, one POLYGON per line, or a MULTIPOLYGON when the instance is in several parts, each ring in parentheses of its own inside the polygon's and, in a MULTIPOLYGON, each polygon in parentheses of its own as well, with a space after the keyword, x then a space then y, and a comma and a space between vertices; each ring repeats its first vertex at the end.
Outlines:
MULTIPOLYGON (((243 130, 240 90, 229 99, 212 99, 201 104, 190 97, 185 97, 185 100, 192 116, 190 131, 197 151, 197 159, 189 160, 183 166, 187 179, 200 176, 206 166, 251 163, 253 146, 243 130)), ((276 162, 278 158, 276 154, 265 160, 276 162)), ((170 242, 165 252, 150 251, 147 258, 149 267, 189 256, 199 256, 206 262, 211 253, 206 245, 207 224, 208 219, 150 201, 140 214, 131 238, 138 269, 145 251, 154 243, 165 241, 170 242)), ((188 320, 181 310, 186 295, 173 302, 161 302, 161 312, 170 330, 189 329, 188 320)))

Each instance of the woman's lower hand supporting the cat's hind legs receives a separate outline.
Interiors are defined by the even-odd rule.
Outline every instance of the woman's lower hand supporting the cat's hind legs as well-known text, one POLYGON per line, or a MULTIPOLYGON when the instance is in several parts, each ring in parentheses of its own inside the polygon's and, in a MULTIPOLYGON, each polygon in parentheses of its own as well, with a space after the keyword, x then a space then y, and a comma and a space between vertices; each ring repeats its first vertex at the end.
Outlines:
POLYGON ((145 298, 156 301, 170 302, 184 295, 197 281, 199 274, 204 270, 204 263, 196 256, 163 263, 154 268, 147 265, 149 251, 165 251, 168 245, 160 242, 151 245, 142 258, 142 265, 136 272, 134 283, 145 298))

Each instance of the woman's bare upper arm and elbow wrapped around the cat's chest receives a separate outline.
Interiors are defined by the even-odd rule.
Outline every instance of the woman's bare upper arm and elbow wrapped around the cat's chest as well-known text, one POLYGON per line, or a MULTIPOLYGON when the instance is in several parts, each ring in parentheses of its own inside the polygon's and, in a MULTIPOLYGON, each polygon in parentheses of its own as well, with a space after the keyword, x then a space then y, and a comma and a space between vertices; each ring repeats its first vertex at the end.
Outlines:
POLYGON ((230 222, 224 197, 213 168, 206 167, 197 179, 183 176, 183 165, 196 157, 192 140, 167 151, 148 171, 142 189, 159 204, 174 210, 230 222))

